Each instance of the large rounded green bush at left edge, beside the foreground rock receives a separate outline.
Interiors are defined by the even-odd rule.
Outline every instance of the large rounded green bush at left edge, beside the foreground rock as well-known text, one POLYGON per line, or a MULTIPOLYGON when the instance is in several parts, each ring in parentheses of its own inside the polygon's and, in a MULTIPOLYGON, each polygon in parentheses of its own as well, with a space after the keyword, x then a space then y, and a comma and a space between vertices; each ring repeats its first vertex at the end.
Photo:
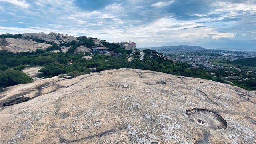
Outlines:
POLYGON ((3 88, 30 82, 33 82, 32 78, 19 70, 0 70, 0 86, 3 88))

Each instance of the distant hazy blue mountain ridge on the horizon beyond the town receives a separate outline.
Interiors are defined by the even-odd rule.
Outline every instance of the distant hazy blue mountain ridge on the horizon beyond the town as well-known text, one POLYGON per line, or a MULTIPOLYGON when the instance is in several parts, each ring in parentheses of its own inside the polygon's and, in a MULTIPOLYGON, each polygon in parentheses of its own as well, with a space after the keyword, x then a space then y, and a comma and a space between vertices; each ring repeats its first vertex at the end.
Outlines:
POLYGON ((161 46, 161 47, 150 47, 148 49, 161 49, 161 50, 205 50, 201 46, 161 46))

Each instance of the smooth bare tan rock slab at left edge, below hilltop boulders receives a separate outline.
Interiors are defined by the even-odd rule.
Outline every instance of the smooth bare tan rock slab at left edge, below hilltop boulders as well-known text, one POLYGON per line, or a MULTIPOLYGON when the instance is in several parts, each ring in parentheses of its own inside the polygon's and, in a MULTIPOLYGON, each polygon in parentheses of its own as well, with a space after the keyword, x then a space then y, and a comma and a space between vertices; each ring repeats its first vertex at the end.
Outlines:
POLYGON ((0 50, 9 52, 34 52, 37 49, 46 50, 50 44, 38 43, 34 40, 6 38, 6 44, 0 45, 0 50))

